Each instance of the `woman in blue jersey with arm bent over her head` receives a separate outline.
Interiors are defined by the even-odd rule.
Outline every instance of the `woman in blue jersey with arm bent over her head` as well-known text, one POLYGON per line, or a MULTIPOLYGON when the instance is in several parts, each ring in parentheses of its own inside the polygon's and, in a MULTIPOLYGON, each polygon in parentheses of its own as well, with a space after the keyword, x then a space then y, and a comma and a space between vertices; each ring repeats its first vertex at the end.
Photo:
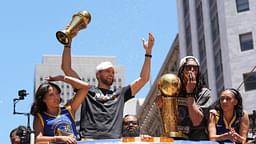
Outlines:
POLYGON ((78 133, 74 116, 87 92, 88 85, 85 82, 69 76, 49 77, 48 82, 42 83, 36 91, 31 106, 36 143, 75 144, 78 133), (74 97, 64 107, 60 107, 61 89, 51 81, 63 81, 76 88, 74 97))

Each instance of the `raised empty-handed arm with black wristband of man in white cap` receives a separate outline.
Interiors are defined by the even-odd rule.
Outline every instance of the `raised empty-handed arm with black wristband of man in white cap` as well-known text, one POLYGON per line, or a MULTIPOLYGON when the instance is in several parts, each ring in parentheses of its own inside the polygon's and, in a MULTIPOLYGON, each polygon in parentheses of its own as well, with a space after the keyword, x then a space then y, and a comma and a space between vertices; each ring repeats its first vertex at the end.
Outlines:
POLYGON ((140 77, 131 83, 131 92, 133 96, 148 82, 150 77, 151 52, 155 42, 153 34, 149 33, 148 41, 142 40, 142 42, 145 49, 145 60, 140 72, 140 77))

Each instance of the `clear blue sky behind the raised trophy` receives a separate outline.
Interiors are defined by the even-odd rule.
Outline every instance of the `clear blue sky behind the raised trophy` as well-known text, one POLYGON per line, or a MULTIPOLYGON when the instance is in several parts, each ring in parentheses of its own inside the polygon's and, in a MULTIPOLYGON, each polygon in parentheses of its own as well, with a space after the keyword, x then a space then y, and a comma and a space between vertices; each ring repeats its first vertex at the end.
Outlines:
MULTIPOLYGON (((141 38, 155 36, 151 78, 154 81, 178 32, 175 0, 5 0, 0 5, 0 139, 9 143, 9 132, 27 125, 27 118, 13 115, 13 99, 18 90, 29 96, 17 104, 17 111, 28 112, 33 98, 35 65, 43 55, 61 55, 63 46, 55 33, 72 15, 87 10, 92 21, 73 40, 73 55, 116 56, 125 66, 126 84, 135 80, 144 60, 141 38)), ((137 97, 149 91, 147 84, 137 97)), ((31 122, 32 124, 32 117, 31 122)))

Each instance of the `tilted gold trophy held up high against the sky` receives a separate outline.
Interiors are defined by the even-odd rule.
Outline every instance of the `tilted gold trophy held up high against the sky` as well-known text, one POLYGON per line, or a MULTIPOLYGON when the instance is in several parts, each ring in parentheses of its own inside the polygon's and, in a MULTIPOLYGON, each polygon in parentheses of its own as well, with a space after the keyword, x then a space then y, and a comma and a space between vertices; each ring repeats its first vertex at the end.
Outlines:
POLYGON ((74 14, 68 27, 57 31, 56 37, 60 43, 67 45, 79 30, 85 29, 91 21, 91 14, 88 11, 80 11, 74 14))

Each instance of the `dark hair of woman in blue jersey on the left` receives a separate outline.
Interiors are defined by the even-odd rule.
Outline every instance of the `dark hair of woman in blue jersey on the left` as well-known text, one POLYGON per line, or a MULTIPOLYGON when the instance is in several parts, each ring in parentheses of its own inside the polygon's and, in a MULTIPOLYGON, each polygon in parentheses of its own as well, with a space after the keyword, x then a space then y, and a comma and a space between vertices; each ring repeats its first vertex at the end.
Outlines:
POLYGON ((36 91, 34 102, 30 109, 30 113, 32 115, 36 115, 36 113, 38 112, 45 112, 47 110, 47 106, 44 103, 43 99, 47 94, 49 87, 55 87, 58 90, 58 93, 61 93, 61 89, 58 85, 51 82, 42 83, 36 91))

